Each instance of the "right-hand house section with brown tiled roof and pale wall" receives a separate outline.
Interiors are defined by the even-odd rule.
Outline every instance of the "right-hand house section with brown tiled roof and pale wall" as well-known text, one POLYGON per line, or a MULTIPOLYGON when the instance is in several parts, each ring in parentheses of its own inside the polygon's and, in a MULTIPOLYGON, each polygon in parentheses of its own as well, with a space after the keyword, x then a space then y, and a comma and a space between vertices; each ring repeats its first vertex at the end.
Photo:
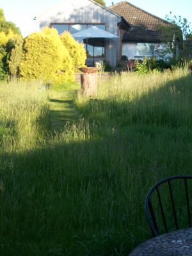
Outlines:
MULTIPOLYGON (((130 25, 130 29, 120 31, 122 38, 122 56, 129 59, 141 59, 151 57, 161 52, 166 52, 165 58, 172 54, 168 51, 166 41, 166 29, 173 26, 170 22, 163 20, 127 1, 114 4, 109 10, 124 17, 130 25)), ((176 39, 176 38, 175 38, 176 39)), ((177 45, 179 51, 179 44, 177 45)))

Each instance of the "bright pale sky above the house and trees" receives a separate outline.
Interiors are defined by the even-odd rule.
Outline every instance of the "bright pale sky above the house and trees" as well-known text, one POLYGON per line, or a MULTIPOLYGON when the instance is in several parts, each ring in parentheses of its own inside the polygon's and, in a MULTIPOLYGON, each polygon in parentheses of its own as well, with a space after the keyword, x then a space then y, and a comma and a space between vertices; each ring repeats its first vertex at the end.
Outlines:
MULTIPOLYGON (((61 0, 0 0, 0 8, 3 8, 6 20, 15 22, 23 36, 38 30, 38 22, 34 17, 44 13, 61 0)), ((70 0, 66 0, 70 1, 70 0)), ((79 0, 81 1, 81 0, 79 0)), ((121 0, 105 0, 106 6, 119 3, 121 0)), ((170 12, 176 16, 182 16, 191 22, 192 26, 192 0, 128 0, 143 10, 164 19, 170 12)))

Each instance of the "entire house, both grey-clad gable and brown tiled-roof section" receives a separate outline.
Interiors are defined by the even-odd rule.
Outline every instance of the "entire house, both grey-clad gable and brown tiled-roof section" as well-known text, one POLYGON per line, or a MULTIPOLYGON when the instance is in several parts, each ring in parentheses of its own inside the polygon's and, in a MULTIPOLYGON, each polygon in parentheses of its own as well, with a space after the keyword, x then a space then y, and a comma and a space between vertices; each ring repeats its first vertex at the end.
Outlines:
POLYGON ((152 56, 162 47, 164 38, 159 25, 169 23, 140 8, 122 1, 109 8, 93 0, 63 0, 38 17, 40 28, 56 28, 59 33, 70 31, 73 35, 96 26, 118 38, 81 38, 87 52, 87 64, 107 60, 115 67, 124 59, 142 59, 152 56))

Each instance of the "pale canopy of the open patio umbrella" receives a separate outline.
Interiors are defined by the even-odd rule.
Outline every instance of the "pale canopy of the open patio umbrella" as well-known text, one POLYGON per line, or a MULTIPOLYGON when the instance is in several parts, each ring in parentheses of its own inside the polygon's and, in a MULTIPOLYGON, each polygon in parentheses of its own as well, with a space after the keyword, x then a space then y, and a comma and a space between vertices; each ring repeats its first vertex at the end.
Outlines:
POLYGON ((119 36, 113 35, 103 29, 93 26, 92 28, 84 29, 77 33, 72 34, 75 38, 118 38, 119 36))

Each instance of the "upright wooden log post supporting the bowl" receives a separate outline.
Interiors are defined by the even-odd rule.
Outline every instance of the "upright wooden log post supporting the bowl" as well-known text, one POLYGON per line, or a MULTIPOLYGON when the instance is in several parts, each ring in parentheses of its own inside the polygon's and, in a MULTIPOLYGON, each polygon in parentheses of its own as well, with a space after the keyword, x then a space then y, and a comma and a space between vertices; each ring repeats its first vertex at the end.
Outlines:
POLYGON ((97 95, 97 72, 81 74, 81 96, 97 95))

